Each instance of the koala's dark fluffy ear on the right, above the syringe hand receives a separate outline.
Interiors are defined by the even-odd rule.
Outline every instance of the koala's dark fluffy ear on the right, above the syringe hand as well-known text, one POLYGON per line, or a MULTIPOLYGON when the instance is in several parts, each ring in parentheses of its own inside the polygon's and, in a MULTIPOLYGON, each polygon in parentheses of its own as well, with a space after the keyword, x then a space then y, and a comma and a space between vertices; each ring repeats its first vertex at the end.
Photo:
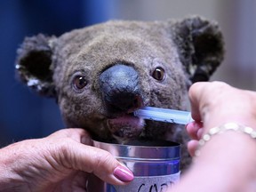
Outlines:
POLYGON ((192 83, 208 81, 224 55, 223 36, 217 23, 191 17, 174 24, 174 42, 192 83))

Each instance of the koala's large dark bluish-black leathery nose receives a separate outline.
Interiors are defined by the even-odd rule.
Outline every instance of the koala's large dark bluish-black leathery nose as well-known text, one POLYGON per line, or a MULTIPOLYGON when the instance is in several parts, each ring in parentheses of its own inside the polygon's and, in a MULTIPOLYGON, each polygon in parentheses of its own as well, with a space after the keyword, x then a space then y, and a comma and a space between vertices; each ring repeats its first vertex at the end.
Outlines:
POLYGON ((127 112, 142 105, 139 74, 130 66, 117 64, 103 71, 100 89, 110 112, 127 112))

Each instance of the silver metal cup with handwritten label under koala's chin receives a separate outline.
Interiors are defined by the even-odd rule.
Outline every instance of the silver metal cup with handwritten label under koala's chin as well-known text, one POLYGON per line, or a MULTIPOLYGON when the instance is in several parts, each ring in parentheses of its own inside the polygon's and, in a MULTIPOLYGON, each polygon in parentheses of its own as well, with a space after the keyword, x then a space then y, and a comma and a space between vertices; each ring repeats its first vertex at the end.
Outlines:
POLYGON ((110 152, 134 174, 126 186, 112 186, 96 176, 88 180, 89 192, 167 191, 180 180, 180 144, 171 141, 133 141, 113 144, 93 140, 93 145, 110 152))

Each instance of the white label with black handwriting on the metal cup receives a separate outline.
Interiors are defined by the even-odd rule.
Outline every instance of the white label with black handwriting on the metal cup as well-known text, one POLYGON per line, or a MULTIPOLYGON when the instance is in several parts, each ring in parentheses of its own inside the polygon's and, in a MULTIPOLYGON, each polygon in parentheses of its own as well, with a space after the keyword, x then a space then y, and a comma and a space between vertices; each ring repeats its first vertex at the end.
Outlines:
POLYGON ((126 186, 115 186, 116 192, 165 192, 180 180, 180 172, 151 177, 134 177, 126 186))

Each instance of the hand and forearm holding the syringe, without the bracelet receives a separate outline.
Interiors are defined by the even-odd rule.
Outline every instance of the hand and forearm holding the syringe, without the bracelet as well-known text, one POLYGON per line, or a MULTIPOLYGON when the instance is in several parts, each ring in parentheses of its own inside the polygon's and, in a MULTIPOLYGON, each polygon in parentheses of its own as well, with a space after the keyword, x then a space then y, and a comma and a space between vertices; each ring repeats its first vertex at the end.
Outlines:
MULTIPOLYGON (((212 127, 235 122, 255 131, 256 92, 213 82, 193 84, 188 94, 195 119, 186 126, 192 139, 188 142, 192 156, 198 140, 212 127)), ((243 132, 223 132, 211 137, 180 183, 170 191, 255 191, 255 148, 255 140, 243 132)))

